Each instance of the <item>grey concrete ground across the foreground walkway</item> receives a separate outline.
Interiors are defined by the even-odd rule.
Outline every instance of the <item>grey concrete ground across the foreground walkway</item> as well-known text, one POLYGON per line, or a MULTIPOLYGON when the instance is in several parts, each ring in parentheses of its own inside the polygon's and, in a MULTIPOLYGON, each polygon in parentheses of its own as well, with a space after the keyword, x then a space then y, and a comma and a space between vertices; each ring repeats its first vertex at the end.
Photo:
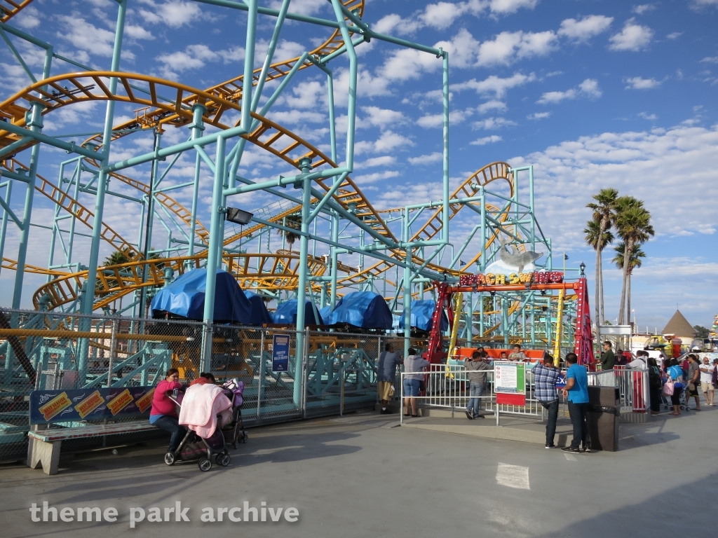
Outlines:
POLYGON ((159 443, 121 448, 117 456, 84 453, 61 461, 57 476, 0 466, 0 535, 715 536, 718 412, 703 409, 622 424, 617 453, 573 455, 536 443, 398 428, 396 415, 365 413, 250 430, 232 464, 207 473, 195 463, 166 466, 159 443), (114 523, 31 522, 31 503, 42 501, 112 506, 119 516, 114 523), (190 507, 190 523, 144 521, 130 529, 131 508, 149 513, 177 501, 190 507), (200 521, 203 508, 244 501, 296 507, 299 520, 200 521))

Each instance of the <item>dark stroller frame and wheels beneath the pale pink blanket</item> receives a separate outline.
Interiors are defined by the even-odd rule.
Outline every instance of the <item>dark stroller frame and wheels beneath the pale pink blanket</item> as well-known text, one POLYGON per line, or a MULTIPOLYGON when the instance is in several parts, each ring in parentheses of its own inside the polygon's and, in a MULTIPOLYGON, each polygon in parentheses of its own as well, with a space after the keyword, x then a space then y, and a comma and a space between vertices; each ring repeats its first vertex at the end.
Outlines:
MULTIPOLYGON (((183 398, 181 394, 178 394, 175 390, 169 398, 182 410, 183 398)), ((221 428, 229 423, 230 417, 231 415, 228 413, 217 415, 215 429, 211 435, 205 438, 200 437, 195 430, 187 428, 185 438, 177 446, 177 450, 164 454, 164 463, 174 465, 177 461, 197 461, 200 471, 209 471, 212 468, 212 456, 214 456, 217 465, 228 466, 231 458, 225 445, 225 436, 221 428)))

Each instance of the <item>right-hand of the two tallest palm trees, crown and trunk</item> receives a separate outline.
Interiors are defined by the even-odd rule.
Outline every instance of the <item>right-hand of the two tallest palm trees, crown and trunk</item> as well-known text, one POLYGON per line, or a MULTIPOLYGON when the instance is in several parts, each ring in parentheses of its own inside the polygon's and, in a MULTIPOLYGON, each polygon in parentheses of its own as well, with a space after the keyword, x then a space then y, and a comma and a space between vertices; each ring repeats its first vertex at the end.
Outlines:
POLYGON ((621 303, 618 311, 618 323, 625 320, 626 288, 628 286, 628 268, 633 258, 633 250, 655 235, 651 225, 651 213, 643 207, 643 202, 633 197, 620 197, 616 201, 616 231, 625 243, 623 255, 623 285, 621 303))

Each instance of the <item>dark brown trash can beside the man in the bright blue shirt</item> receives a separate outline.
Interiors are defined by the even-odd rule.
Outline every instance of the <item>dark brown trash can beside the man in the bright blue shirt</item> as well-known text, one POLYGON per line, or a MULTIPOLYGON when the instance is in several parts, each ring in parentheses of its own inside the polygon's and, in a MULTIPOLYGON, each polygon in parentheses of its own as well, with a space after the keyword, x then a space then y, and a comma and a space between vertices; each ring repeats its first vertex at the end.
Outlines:
POLYGON ((620 395, 615 387, 588 387, 586 423, 593 450, 618 450, 620 395))

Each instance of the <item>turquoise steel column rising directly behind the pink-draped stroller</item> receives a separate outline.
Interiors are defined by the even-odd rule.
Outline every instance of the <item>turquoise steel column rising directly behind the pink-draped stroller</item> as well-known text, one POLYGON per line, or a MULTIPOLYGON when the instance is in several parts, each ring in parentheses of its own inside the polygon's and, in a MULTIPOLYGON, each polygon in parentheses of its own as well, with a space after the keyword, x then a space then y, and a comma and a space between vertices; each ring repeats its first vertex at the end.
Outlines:
POLYGON ((222 245, 220 235, 220 220, 224 218, 222 207, 222 190, 224 187, 225 148, 227 141, 223 137, 217 138, 217 153, 215 156, 215 176, 212 192, 212 206, 210 207, 210 244, 207 252, 207 283, 205 285, 205 311, 202 314, 204 328, 202 329, 202 357, 200 359, 202 372, 211 369, 212 332, 215 313, 215 288, 217 287, 217 268, 219 265, 219 249, 222 245))

